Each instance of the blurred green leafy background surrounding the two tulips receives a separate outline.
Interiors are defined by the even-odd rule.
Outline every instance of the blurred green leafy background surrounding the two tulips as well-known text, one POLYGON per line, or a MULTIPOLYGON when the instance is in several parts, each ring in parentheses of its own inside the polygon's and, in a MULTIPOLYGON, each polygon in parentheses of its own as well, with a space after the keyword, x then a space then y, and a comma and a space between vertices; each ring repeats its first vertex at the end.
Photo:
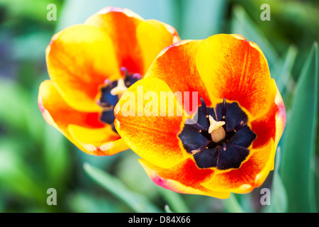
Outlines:
POLYGON ((318 0, 0 0, 0 212, 317 212, 318 21, 318 0), (261 20, 262 4, 270 21, 261 20), (183 40, 238 33, 259 45, 287 111, 275 170, 260 188, 226 200, 170 192, 134 153, 86 155, 48 126, 37 104, 46 46, 105 6, 168 23, 183 40), (263 187, 270 205, 261 205, 263 187), (47 204, 49 188, 56 206, 47 204))

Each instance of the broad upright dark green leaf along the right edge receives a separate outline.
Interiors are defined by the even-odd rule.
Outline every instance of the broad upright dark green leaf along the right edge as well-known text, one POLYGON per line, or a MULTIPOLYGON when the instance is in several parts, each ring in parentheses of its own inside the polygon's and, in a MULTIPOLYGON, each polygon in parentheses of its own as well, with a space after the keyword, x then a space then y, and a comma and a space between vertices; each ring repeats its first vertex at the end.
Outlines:
POLYGON ((281 176, 288 212, 315 212, 314 160, 318 121, 318 44, 305 60, 287 118, 281 176))

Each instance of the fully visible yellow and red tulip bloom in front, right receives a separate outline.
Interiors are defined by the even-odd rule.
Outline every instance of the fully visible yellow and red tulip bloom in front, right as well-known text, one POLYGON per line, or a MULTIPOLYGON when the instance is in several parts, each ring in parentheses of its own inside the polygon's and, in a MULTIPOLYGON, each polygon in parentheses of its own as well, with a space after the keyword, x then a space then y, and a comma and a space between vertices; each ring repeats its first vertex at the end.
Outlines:
POLYGON ((286 123, 261 49, 226 34, 165 48, 114 112, 153 182, 220 199, 264 182, 286 123))

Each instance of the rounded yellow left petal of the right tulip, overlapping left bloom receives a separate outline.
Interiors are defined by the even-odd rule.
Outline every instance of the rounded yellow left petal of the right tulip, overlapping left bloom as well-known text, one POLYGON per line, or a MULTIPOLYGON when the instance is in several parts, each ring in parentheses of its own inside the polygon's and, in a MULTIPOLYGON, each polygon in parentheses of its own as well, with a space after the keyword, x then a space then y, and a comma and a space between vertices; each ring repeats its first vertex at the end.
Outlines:
POLYGON ((177 137, 184 117, 173 94, 174 102, 162 105, 165 103, 160 99, 161 92, 172 91, 157 78, 145 78, 133 84, 115 106, 115 128, 137 155, 159 167, 172 167, 189 157, 177 137), (151 103, 154 104, 152 108, 151 103), (174 114, 172 111, 169 115, 169 109, 174 109, 174 114))

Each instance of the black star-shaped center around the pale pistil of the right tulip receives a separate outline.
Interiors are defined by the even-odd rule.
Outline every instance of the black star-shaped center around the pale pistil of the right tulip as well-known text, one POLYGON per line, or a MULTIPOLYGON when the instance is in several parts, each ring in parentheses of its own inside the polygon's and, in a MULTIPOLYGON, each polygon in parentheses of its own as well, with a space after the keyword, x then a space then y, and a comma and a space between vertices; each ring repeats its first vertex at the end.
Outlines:
POLYGON ((247 125, 248 117, 236 102, 226 103, 226 99, 215 109, 207 107, 204 99, 197 110, 197 122, 188 119, 179 133, 179 138, 187 150, 194 154, 199 168, 216 167, 218 170, 237 169, 249 155, 249 146, 256 134, 247 125), (209 133, 209 116, 215 121, 224 121, 224 136, 214 142, 209 133))

